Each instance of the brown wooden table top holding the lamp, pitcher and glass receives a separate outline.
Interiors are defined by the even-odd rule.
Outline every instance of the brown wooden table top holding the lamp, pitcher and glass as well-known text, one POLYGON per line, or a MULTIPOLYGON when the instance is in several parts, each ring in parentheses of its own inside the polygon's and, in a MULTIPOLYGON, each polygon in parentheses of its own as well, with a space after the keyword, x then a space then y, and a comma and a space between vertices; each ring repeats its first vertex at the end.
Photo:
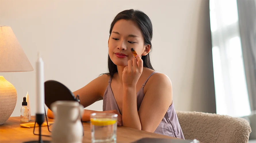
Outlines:
MULTIPOLYGON (((31 116, 31 121, 35 123, 35 116, 31 116)), ((46 122, 46 120, 45 120, 46 122)), ((48 122, 54 122, 53 119, 48 118, 48 122)), ((3 125, 0 125, 0 143, 4 142, 15 142, 21 143, 26 141, 33 141, 38 140, 38 135, 33 134, 33 128, 22 128, 20 127, 20 117, 10 117, 3 125)), ((50 130, 52 126, 49 127, 50 130)), ((35 133, 39 133, 39 127, 35 128, 35 133)), ((48 131, 47 126, 41 127, 42 134, 51 135, 48 131)), ((83 122, 83 129, 84 129, 84 142, 91 142, 91 130, 90 130, 90 123, 83 122)), ((117 142, 128 143, 134 142, 141 138, 150 137, 150 138, 172 138, 170 136, 154 134, 146 131, 136 130, 133 128, 127 128, 123 126, 117 127, 117 142)), ((51 140, 51 137, 42 136, 43 140, 51 140)))

